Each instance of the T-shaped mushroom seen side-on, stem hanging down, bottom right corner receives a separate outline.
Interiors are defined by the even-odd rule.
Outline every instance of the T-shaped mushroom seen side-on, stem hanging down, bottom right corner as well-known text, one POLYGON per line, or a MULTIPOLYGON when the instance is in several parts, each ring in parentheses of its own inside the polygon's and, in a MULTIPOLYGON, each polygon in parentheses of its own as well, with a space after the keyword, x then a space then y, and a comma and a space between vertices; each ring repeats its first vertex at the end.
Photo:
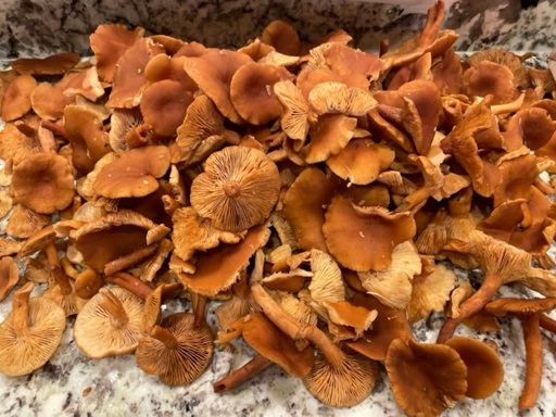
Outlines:
POLYGON ((551 312, 555 307, 555 298, 528 300, 501 298, 485 305, 485 309, 496 316, 511 314, 521 320, 526 345, 526 380, 519 397, 519 409, 532 408, 536 403, 543 372, 540 319, 542 313, 551 312))

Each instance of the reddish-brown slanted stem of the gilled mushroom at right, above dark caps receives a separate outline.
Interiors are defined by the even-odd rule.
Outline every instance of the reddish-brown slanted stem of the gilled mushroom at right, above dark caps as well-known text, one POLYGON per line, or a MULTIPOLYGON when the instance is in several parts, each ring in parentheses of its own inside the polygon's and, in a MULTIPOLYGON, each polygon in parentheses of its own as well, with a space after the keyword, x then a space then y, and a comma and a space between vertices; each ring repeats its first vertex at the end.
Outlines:
POLYGON ((479 288, 462 303, 459 308, 459 316, 450 317, 446 319, 446 321, 444 321, 444 325, 442 325, 442 328, 440 329, 437 343, 444 343, 452 336, 454 336, 457 326, 459 326, 459 324, 466 318, 472 316, 476 313, 479 313, 486 305, 486 303, 491 301, 491 299, 500 290, 503 283, 504 279, 500 274, 488 275, 484 278, 481 288, 479 288))

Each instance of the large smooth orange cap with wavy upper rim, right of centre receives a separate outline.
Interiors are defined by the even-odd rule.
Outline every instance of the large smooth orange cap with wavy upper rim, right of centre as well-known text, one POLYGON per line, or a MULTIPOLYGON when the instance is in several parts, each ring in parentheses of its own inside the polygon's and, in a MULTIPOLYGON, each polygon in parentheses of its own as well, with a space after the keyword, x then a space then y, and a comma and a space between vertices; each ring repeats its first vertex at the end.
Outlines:
POLYGON ((323 225, 326 244, 334 258, 356 271, 383 270, 392 262, 392 251, 415 236, 409 213, 390 213, 380 206, 358 207, 343 197, 334 197, 323 225))

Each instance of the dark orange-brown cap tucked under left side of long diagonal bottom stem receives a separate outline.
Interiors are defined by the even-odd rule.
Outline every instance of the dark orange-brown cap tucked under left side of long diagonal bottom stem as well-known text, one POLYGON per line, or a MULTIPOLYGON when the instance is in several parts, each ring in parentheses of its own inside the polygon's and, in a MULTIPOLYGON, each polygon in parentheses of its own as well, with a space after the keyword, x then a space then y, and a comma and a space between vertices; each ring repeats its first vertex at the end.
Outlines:
POLYGON ((313 348, 299 351, 295 342, 262 313, 254 313, 245 321, 242 336, 245 342, 267 359, 280 365, 288 374, 305 377, 313 366, 313 348))

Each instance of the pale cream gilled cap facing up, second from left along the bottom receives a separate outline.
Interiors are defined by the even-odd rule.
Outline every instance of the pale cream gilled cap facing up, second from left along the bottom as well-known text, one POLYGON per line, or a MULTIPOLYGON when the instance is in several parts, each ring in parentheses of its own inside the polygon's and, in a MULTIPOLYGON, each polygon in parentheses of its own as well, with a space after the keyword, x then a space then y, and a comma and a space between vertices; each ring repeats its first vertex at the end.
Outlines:
POLYGON ((103 288, 77 315, 75 344, 93 359, 131 353, 141 338, 142 312, 143 302, 131 292, 103 288))

